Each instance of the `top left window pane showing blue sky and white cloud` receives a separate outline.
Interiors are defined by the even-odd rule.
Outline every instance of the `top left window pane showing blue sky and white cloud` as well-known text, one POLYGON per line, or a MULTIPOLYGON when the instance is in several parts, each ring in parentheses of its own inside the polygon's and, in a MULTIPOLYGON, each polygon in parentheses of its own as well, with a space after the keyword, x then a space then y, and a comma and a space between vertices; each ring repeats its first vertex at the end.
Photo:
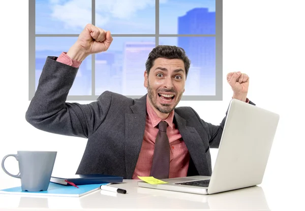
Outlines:
POLYGON ((88 0, 36 0, 35 13, 37 34, 78 34, 91 23, 92 7, 88 0))

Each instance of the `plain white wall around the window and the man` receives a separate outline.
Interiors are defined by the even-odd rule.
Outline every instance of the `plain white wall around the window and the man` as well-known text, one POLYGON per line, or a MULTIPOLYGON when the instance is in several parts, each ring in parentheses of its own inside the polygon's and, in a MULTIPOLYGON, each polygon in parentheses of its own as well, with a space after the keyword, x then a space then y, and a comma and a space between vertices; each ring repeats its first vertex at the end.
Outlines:
MULTIPOLYGON (((17 150, 54 150, 58 153, 53 172, 74 173, 86 139, 45 133, 24 119, 29 104, 28 5, 27 1, 17 1, 16 7, 14 2, 6 1, 6 6, 0 9, 0 49, 5 54, 0 69, 0 158, 17 150)), ((250 76, 249 98, 257 106, 281 115, 261 185, 271 210, 287 210, 288 203, 284 203, 287 201, 294 202, 295 208, 302 205, 297 193, 304 186, 305 161, 305 115, 301 103, 305 90, 304 6, 303 1, 297 0, 224 0, 224 99, 179 103, 192 106, 202 119, 218 124, 232 95, 226 74, 241 71, 250 76)), ((213 162, 216 154, 217 150, 212 151, 213 162)), ((14 158, 7 160, 7 168, 18 172, 14 158)), ((0 170, 0 189, 19 185, 18 179, 0 170)))

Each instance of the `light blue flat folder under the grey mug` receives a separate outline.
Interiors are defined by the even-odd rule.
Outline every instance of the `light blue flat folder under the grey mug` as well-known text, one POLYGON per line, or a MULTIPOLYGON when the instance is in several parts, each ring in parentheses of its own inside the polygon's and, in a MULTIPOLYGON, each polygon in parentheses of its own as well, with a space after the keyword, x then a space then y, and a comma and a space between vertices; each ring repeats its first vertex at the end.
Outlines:
POLYGON ((5 194, 21 194, 21 195, 37 195, 37 196, 69 196, 80 197, 93 191, 99 190, 101 185, 107 184, 92 184, 79 185, 78 188, 74 186, 58 185, 50 183, 48 190, 39 192, 22 191, 21 186, 0 190, 0 193, 5 194))

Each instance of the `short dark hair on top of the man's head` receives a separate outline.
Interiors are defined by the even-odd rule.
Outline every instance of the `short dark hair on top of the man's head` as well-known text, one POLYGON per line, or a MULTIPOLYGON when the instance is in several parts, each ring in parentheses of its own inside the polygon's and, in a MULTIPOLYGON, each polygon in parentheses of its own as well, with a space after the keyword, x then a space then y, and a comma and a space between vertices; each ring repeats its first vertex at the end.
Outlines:
POLYGON ((149 74, 149 71, 151 67, 154 66, 154 61, 157 58, 167 58, 167 59, 181 59, 185 63, 185 69, 186 69, 186 76, 188 76, 191 60, 186 55, 186 51, 183 48, 177 47, 177 46, 165 46, 165 45, 159 45, 155 47, 148 55, 148 59, 145 63, 145 68, 147 71, 147 74, 149 74))

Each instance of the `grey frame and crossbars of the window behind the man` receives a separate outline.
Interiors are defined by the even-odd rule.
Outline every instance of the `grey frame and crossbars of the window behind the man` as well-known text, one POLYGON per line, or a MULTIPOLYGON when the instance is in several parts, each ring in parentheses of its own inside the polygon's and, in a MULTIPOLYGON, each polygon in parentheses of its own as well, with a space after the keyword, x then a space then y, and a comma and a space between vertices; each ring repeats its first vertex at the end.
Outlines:
MULTIPOLYGON (((181 100, 222 100, 223 99, 223 0, 215 0, 216 31, 215 34, 160 34, 159 32, 159 0, 156 1, 155 34, 111 34, 112 37, 155 37, 156 46, 161 37, 215 37, 216 39, 216 86, 215 95, 182 95, 181 100)), ((36 0, 28 3, 28 99, 32 100, 35 94, 35 71, 36 71, 36 38, 37 37, 78 37, 79 34, 36 34, 36 0)), ((95 0, 92 0, 92 24, 95 25, 95 0)), ((59 55, 50 55, 59 56, 59 55)), ((91 95, 68 95, 67 100, 96 100, 99 95, 95 94, 95 54, 92 54, 92 94, 91 95)), ((148 56, 148 55, 147 55, 148 56)), ((109 90, 111 91, 111 90, 109 90)), ((131 98, 139 98, 142 95, 126 95, 131 98)))

